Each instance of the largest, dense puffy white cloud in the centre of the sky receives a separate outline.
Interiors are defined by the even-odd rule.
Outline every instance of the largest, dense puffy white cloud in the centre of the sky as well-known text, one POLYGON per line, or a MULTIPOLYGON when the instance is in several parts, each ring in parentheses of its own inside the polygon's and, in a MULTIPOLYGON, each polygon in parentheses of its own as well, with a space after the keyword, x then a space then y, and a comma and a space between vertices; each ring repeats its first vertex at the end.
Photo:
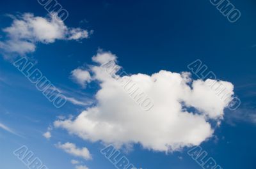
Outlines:
MULTIPOLYGON (((116 56, 102 51, 93 57, 100 64, 111 59, 115 61, 116 56)), ((154 151, 179 151, 200 145, 212 136, 214 126, 223 119, 223 110, 231 101, 234 88, 230 82, 216 82, 226 85, 230 93, 224 103, 209 87, 211 80, 193 81, 189 73, 162 70, 153 75, 131 75, 129 79, 154 101, 154 107, 143 111, 127 94, 135 90, 125 81, 127 77, 120 78, 116 73, 116 80, 100 66, 92 66, 91 71, 100 85, 95 96, 97 105, 74 120, 57 120, 54 126, 84 140, 113 143, 116 147, 140 143, 154 151)))

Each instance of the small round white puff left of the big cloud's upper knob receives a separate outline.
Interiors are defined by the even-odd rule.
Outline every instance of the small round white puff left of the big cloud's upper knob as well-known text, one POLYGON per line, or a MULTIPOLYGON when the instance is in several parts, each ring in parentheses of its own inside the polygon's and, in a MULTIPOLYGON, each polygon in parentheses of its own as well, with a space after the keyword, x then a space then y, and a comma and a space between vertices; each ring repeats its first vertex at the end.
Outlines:
POLYGON ((92 80, 92 77, 89 71, 82 70, 77 68, 76 70, 71 71, 72 79, 82 87, 86 87, 86 84, 92 80))

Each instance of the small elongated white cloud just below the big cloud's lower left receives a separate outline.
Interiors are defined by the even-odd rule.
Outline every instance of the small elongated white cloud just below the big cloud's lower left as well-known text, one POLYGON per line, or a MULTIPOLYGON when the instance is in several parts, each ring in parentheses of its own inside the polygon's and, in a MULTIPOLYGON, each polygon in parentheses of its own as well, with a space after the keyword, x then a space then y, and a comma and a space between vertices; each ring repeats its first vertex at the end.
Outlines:
POLYGON ((62 149, 63 151, 67 152, 68 154, 71 154, 73 156, 81 157, 86 160, 92 159, 92 156, 88 149, 86 147, 83 147, 82 149, 79 149, 76 147, 74 143, 64 143, 61 144, 60 142, 56 145, 59 149, 62 149))

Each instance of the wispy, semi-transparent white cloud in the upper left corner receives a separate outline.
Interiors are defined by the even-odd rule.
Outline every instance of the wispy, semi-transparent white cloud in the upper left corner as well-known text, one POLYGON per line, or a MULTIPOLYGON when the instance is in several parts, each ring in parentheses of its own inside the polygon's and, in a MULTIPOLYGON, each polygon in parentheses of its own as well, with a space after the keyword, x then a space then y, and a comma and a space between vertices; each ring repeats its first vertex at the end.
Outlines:
POLYGON ((9 40, 0 41, 4 54, 28 54, 35 51, 36 43, 54 43, 56 40, 81 40, 88 38, 89 33, 81 28, 69 28, 60 19, 35 17, 32 13, 24 13, 14 17, 12 26, 3 31, 9 40))

